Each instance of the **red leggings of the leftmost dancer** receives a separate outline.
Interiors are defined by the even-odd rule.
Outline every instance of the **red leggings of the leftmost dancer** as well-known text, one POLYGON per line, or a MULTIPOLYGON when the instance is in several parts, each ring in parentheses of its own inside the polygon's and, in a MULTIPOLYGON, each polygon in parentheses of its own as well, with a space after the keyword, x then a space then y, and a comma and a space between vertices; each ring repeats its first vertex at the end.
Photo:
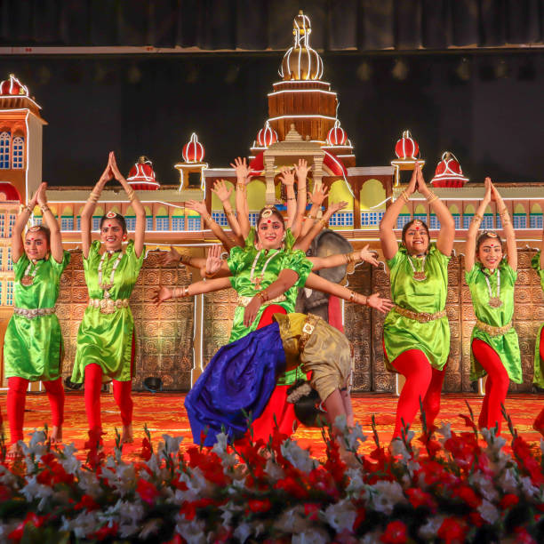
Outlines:
MULTIPOLYGON (((60 427, 64 421, 64 388, 62 380, 43 381, 51 405, 52 424, 60 427)), ((28 380, 12 376, 8 378, 7 412, 10 423, 10 444, 23 440, 23 421, 25 419, 25 400, 28 380)))

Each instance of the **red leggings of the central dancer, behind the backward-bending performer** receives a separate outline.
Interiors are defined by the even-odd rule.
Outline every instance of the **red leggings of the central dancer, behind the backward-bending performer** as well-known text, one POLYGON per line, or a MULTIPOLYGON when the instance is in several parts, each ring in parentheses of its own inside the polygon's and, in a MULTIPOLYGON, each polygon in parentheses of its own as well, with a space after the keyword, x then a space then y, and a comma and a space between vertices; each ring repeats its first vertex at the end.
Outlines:
MULTIPOLYGON (((257 328, 261 329, 268 324, 272 324, 272 316, 274 314, 287 314, 287 312, 281 306, 271 304, 264 310, 262 316, 260 316, 259 326, 257 328)), ((264 412, 260 414, 259 418, 253 421, 252 428, 254 440, 262 438, 265 442, 268 441, 272 429, 276 427, 274 416, 276 416, 279 430, 285 435, 292 435, 296 417, 294 414, 294 405, 287 402, 287 389, 290 387, 291 386, 276 386, 264 412)))

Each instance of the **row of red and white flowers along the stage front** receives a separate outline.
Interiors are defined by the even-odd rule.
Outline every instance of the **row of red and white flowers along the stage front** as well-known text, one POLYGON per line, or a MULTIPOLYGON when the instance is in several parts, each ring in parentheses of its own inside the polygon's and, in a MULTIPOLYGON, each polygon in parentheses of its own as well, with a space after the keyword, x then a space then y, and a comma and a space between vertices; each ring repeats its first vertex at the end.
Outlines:
POLYGON ((251 429, 229 445, 180 453, 182 438, 157 447, 147 428, 141 462, 126 463, 117 440, 99 442, 85 462, 71 445, 52 447, 38 431, 12 464, 0 453, 2 542, 519 542, 544 541, 542 453, 508 420, 512 454, 494 431, 449 425, 357 454, 359 425, 332 437, 326 460, 276 429, 268 444, 251 429), (419 442, 419 444, 415 444, 419 442))

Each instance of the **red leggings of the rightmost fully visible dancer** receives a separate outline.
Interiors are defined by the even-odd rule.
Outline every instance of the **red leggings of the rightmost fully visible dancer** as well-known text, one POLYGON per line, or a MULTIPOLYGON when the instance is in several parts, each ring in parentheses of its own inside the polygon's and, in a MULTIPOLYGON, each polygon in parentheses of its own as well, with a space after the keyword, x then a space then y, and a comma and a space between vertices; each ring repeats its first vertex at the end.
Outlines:
POLYGON ((476 361, 487 372, 485 380, 484 404, 478 418, 480 428, 494 428, 502 421, 500 404, 504 404, 508 393, 508 372, 500 360, 497 352, 484 340, 472 340, 472 353, 476 361))

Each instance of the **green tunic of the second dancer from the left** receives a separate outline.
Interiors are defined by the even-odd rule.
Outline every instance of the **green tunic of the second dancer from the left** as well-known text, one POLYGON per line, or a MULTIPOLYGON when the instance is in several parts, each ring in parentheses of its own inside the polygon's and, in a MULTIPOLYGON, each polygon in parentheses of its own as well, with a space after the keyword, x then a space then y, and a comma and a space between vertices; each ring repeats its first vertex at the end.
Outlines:
MULTIPOLYGON (((132 289, 143 264, 145 251, 140 257, 134 252, 134 242, 131 240, 124 252, 123 258, 116 268, 113 287, 109 290, 112 300, 129 299, 132 289)), ((116 261, 117 253, 106 259, 102 268, 102 282, 109 282, 111 270, 116 261)), ((89 257, 84 259, 85 281, 90 299, 104 298, 100 289, 98 268, 100 264, 100 242, 95 240, 89 249, 89 257)), ((84 318, 77 332, 76 360, 72 381, 81 383, 87 364, 100 364, 103 380, 131 380, 132 335, 134 319, 130 307, 116 308, 111 314, 103 314, 100 308, 85 308, 84 318)))

